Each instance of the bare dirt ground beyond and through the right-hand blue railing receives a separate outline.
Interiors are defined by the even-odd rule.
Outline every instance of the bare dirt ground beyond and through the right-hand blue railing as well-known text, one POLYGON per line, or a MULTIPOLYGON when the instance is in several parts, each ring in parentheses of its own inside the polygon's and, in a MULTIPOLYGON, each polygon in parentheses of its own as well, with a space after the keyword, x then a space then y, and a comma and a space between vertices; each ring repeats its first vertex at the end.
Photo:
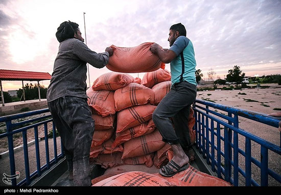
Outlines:
MULTIPOLYGON (((268 115, 271 113, 281 113, 281 86, 272 85, 270 88, 266 89, 243 89, 243 90, 231 90, 231 91, 198 91, 197 99, 207 100, 216 102, 218 104, 223 104, 226 106, 231 106, 237 109, 248 110, 250 112, 261 113, 268 115)), ((215 112, 225 114, 222 110, 217 110, 211 108, 215 112)), ((243 117, 239 118, 239 128, 245 130, 252 135, 261 137, 264 140, 273 143, 277 147, 281 146, 281 133, 278 128, 271 127, 253 120, 249 120, 243 117)), ((281 120, 281 118, 277 118, 281 120)), ((216 124, 215 124, 216 126, 216 124)), ((221 127, 222 136, 223 136, 223 127, 221 127)), ((245 137, 238 135, 238 145, 243 151, 245 151, 245 137)), ((221 149, 223 148, 223 142, 221 143, 221 149)), ((261 160, 261 146, 255 142, 251 142, 251 156, 256 160, 261 160)), ((245 170, 245 157, 239 154, 239 166, 245 170)), ((281 175, 281 156, 268 151, 268 167, 271 170, 274 170, 276 173, 281 175)), ((223 163, 223 160, 222 160, 223 163)), ((252 163, 252 178, 254 178, 258 183, 260 183, 260 169, 252 163)), ((239 177, 239 185, 244 186, 245 181, 244 177, 239 177), (242 178, 242 179, 241 179, 242 178)), ((280 186, 280 183, 274 181, 273 178, 269 176, 269 185, 270 186, 280 186)))

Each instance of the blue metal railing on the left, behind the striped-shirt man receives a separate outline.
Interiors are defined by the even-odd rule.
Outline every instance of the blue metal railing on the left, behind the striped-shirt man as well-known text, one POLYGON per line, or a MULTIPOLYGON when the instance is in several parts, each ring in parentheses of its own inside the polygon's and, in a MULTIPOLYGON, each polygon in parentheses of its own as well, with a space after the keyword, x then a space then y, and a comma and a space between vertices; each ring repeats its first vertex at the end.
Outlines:
MULTIPOLYGON (((21 119, 25 117, 31 117, 35 115, 40 115, 43 113, 49 113, 49 109, 40 109, 27 113, 15 114, 0 117, 0 123, 6 123, 6 132, 0 134, 0 138, 7 137, 8 138, 8 147, 9 147, 9 159, 10 159, 10 174, 11 176, 16 174, 15 168, 15 157, 14 157, 14 144, 13 144, 13 135, 15 133, 22 133, 22 141, 23 141, 23 149, 24 149, 24 159, 25 159, 25 174, 26 178, 17 183, 16 178, 11 179, 12 186, 24 186, 29 185, 32 180, 36 177, 40 177, 42 172, 45 170, 49 170, 50 167, 57 163, 60 158, 64 157, 63 147, 61 143, 61 153, 57 154, 57 142, 56 142, 56 127, 53 123, 53 142, 54 142, 54 158, 50 160, 49 155, 49 139, 48 139, 48 123, 53 122, 51 118, 52 115, 48 114, 41 117, 36 117, 33 119, 24 120, 21 122, 13 123, 13 120, 21 119), (51 118, 51 119, 50 119, 51 118), (29 123, 33 123, 28 125, 29 123), (39 150, 39 137, 38 137, 38 126, 44 125, 44 140, 45 140, 45 157, 46 163, 41 166, 40 163, 40 150, 39 150), (24 126, 24 127, 18 127, 24 126), (18 128, 17 128, 18 127, 18 128), (34 139, 35 139, 35 154, 36 154, 36 166, 37 170, 30 174, 30 165, 29 165, 29 153, 28 153, 28 142, 27 142, 27 130, 34 128, 34 139)), ((8 175, 8 174, 7 174, 8 175)))

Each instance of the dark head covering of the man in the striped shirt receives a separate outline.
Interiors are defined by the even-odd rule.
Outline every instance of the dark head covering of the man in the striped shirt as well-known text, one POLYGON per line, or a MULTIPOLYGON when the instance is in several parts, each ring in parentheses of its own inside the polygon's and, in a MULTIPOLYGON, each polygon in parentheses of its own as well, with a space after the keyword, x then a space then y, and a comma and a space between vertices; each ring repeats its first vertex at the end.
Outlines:
POLYGON ((56 33, 57 40, 59 42, 62 42, 65 39, 74 38, 74 34, 79 30, 78 26, 79 25, 77 23, 71 22, 69 20, 68 22, 62 22, 58 27, 58 31, 56 33))

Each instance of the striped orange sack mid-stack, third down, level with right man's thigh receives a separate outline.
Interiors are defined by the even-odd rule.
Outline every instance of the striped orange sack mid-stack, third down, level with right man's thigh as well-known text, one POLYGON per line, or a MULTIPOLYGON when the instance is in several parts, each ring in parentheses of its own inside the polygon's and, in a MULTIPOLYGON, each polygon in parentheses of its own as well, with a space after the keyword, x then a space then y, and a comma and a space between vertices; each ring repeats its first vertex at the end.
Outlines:
POLYGON ((145 104, 121 110, 117 113, 116 133, 149 121, 155 108, 155 105, 145 104))

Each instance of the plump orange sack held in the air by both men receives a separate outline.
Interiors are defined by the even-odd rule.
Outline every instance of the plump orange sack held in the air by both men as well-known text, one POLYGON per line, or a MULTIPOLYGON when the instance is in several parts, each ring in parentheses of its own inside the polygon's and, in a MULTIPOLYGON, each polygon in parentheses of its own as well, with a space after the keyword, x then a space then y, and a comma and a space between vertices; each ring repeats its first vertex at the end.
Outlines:
POLYGON ((143 43, 136 47, 116 47, 111 45, 113 55, 109 58, 106 67, 114 72, 138 73, 151 72, 159 68, 164 69, 156 54, 153 54, 150 47, 153 43, 143 43))

